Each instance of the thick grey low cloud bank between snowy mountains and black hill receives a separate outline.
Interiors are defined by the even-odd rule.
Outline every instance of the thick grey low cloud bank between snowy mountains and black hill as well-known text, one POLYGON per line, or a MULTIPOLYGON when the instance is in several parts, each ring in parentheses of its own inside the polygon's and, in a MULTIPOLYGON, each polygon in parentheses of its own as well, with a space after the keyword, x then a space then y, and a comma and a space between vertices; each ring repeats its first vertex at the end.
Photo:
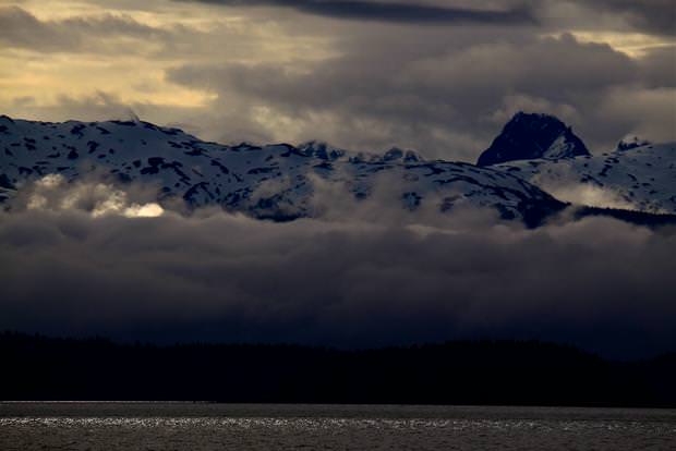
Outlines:
POLYGON ((220 210, 148 218, 126 214, 133 193, 95 215, 82 198, 29 206, 34 188, 0 214, 0 329, 360 348, 541 339, 614 357, 676 349, 672 230, 603 218, 524 230, 375 203, 288 223, 220 210))

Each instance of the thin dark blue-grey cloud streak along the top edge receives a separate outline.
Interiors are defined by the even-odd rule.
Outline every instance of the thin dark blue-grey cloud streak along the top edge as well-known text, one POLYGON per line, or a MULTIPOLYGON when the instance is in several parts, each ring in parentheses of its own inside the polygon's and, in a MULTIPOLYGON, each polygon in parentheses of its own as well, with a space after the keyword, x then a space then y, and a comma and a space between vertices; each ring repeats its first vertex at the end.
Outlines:
POLYGON ((414 2, 393 3, 359 0, 179 0, 228 7, 283 7, 335 19, 394 22, 419 25, 454 23, 526 24, 535 19, 527 7, 506 11, 444 8, 414 2))

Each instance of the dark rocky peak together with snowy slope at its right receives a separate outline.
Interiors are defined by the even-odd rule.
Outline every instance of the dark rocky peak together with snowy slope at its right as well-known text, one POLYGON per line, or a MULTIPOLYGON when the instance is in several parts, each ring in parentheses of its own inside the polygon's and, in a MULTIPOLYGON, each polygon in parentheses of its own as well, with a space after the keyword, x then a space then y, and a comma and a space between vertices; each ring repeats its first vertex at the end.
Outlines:
POLYGON ((558 119, 519 112, 479 164, 519 175, 571 204, 676 215, 676 143, 630 137, 592 155, 558 119))

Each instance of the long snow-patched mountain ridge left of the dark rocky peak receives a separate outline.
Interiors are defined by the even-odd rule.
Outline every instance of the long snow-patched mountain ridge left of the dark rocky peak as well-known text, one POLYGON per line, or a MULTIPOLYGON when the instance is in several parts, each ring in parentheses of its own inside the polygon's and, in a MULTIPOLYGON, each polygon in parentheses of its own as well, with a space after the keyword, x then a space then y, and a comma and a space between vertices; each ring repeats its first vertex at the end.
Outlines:
POLYGON ((323 182, 355 200, 387 191, 403 208, 432 205, 495 209, 536 224, 565 205, 509 171, 427 161, 394 148, 358 154, 311 142, 227 146, 142 121, 63 123, 0 117, 0 200, 29 180, 61 174, 73 181, 102 174, 118 183, 155 185, 164 205, 219 205, 256 218, 289 220, 318 214, 323 182))

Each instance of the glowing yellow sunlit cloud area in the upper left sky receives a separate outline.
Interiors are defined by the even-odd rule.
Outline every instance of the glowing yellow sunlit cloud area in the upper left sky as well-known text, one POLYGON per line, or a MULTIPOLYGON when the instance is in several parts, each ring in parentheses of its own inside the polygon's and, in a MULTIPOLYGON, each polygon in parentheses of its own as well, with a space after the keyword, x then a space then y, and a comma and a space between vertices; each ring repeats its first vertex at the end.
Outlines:
MULTIPOLYGON (((0 34, 0 110, 25 119, 87 120, 60 118, 68 109, 63 103, 87 103, 99 93, 130 107, 208 108, 216 94, 171 83, 167 71, 189 63, 287 63, 335 53, 328 38, 290 34, 238 9, 215 14, 215 8, 158 0, 0 0, 10 20, 40 28, 29 37, 19 34, 27 42, 23 47, 3 42, 0 34), (50 108, 58 118, 46 112, 50 108)), ((9 33, 11 38, 17 32, 9 33)))

